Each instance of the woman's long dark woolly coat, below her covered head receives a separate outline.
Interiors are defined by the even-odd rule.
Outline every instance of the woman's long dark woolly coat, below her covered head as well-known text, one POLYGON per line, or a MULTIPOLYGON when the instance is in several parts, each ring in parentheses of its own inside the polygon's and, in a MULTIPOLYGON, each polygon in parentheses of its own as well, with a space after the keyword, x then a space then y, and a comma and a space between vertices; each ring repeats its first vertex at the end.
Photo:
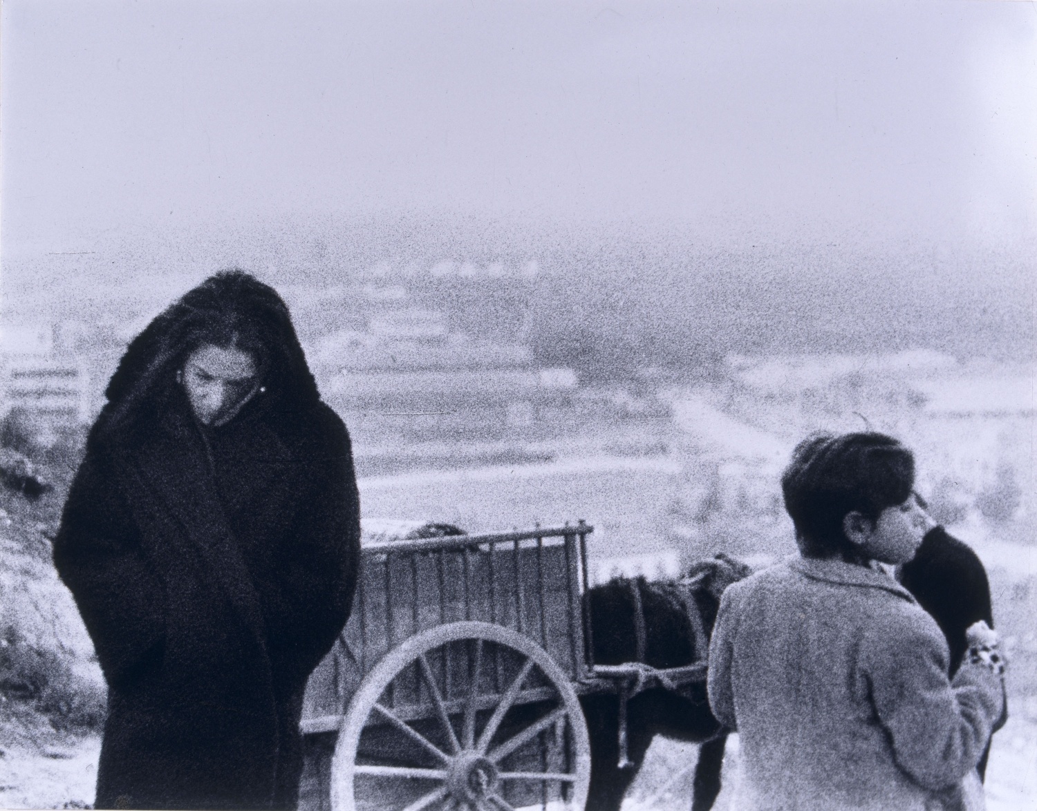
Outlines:
POLYGON ((202 428, 183 393, 132 439, 96 430, 54 561, 109 685, 97 808, 289 808, 310 671, 360 549, 349 438, 257 395, 202 428))

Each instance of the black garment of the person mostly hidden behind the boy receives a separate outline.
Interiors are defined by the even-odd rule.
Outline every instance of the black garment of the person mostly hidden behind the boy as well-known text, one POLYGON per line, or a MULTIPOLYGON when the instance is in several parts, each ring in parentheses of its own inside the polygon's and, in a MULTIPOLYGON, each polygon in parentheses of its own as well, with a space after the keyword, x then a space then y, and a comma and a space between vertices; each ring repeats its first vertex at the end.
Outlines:
POLYGON ((980 619, 993 627, 983 563, 966 544, 937 526, 926 534, 915 559, 903 566, 900 580, 944 632, 953 675, 969 647, 965 629, 980 619))

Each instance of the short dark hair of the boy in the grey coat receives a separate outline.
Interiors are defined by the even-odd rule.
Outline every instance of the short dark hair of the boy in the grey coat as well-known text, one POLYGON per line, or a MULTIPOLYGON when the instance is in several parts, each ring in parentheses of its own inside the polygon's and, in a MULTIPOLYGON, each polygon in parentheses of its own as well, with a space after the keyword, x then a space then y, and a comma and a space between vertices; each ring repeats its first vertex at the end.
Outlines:
POLYGON ((874 521, 906 501, 914 487, 912 452, 877 433, 809 436, 795 446, 781 477, 785 509, 806 557, 854 556, 843 532, 846 514, 859 512, 874 521))

